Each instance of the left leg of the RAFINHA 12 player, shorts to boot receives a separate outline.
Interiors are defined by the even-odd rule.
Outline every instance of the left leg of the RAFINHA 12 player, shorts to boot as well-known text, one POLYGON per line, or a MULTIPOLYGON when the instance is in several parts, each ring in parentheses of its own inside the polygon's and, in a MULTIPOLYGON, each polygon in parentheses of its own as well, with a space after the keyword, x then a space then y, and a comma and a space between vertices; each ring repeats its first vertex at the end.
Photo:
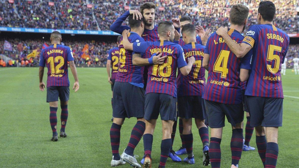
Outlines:
POLYGON ((50 125, 52 129, 52 141, 57 141, 57 109, 58 109, 59 90, 57 86, 47 88, 47 102, 50 105, 50 125))

